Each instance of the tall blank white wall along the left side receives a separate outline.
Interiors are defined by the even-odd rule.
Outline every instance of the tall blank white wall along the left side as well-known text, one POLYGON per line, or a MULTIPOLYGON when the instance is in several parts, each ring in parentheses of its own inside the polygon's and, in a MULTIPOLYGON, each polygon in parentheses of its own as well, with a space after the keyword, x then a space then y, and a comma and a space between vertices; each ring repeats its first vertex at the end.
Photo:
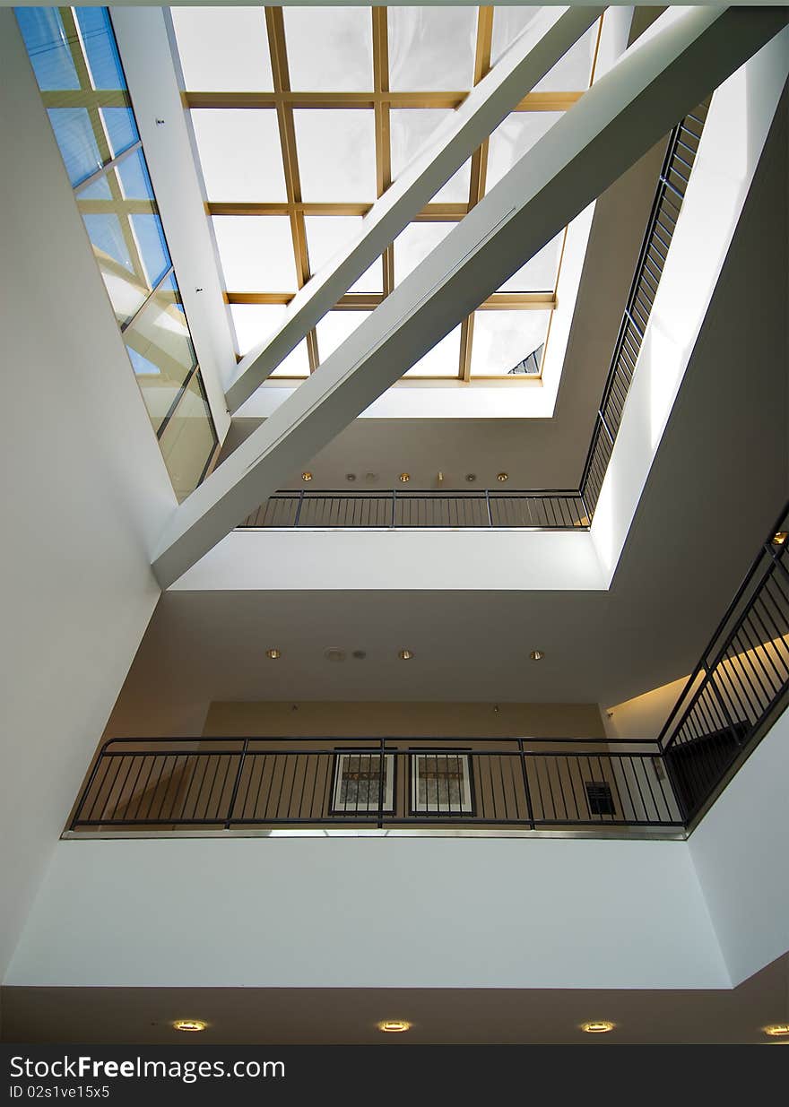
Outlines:
POLYGON ((156 604, 175 496, 10 9, 0 72, 2 979, 156 604))

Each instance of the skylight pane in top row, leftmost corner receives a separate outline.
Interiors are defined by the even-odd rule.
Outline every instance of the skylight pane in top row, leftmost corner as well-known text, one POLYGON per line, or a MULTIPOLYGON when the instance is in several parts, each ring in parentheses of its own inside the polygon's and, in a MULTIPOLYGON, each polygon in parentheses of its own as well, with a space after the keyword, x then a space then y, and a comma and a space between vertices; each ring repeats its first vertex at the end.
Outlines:
POLYGON ((273 90, 262 7, 170 8, 170 14, 188 90, 273 90))

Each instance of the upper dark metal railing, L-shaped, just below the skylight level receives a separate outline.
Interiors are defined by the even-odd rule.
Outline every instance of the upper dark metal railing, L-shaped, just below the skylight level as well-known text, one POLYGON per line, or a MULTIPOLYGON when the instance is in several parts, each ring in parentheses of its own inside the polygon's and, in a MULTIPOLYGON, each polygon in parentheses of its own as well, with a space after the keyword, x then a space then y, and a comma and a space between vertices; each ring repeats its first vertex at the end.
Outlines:
POLYGON ((705 102, 689 112, 668 138, 578 490, 280 492, 248 516, 240 528, 588 528, 622 423, 707 110, 705 102))

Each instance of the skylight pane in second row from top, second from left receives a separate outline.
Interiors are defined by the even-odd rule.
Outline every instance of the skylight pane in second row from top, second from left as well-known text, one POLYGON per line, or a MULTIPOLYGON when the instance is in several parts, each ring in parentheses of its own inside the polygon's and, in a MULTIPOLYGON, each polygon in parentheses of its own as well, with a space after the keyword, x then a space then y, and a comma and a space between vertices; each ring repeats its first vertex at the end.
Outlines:
POLYGON ((293 112, 302 199, 375 199, 375 118, 372 111, 293 112))

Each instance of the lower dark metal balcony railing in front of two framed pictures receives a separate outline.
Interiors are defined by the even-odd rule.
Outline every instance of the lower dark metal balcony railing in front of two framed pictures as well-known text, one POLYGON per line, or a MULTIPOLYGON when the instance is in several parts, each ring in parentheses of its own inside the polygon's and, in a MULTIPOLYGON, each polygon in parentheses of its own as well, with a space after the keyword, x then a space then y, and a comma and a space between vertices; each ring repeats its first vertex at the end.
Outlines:
POLYGON ((789 694, 789 504, 654 742, 112 738, 72 831, 687 830, 789 694))

